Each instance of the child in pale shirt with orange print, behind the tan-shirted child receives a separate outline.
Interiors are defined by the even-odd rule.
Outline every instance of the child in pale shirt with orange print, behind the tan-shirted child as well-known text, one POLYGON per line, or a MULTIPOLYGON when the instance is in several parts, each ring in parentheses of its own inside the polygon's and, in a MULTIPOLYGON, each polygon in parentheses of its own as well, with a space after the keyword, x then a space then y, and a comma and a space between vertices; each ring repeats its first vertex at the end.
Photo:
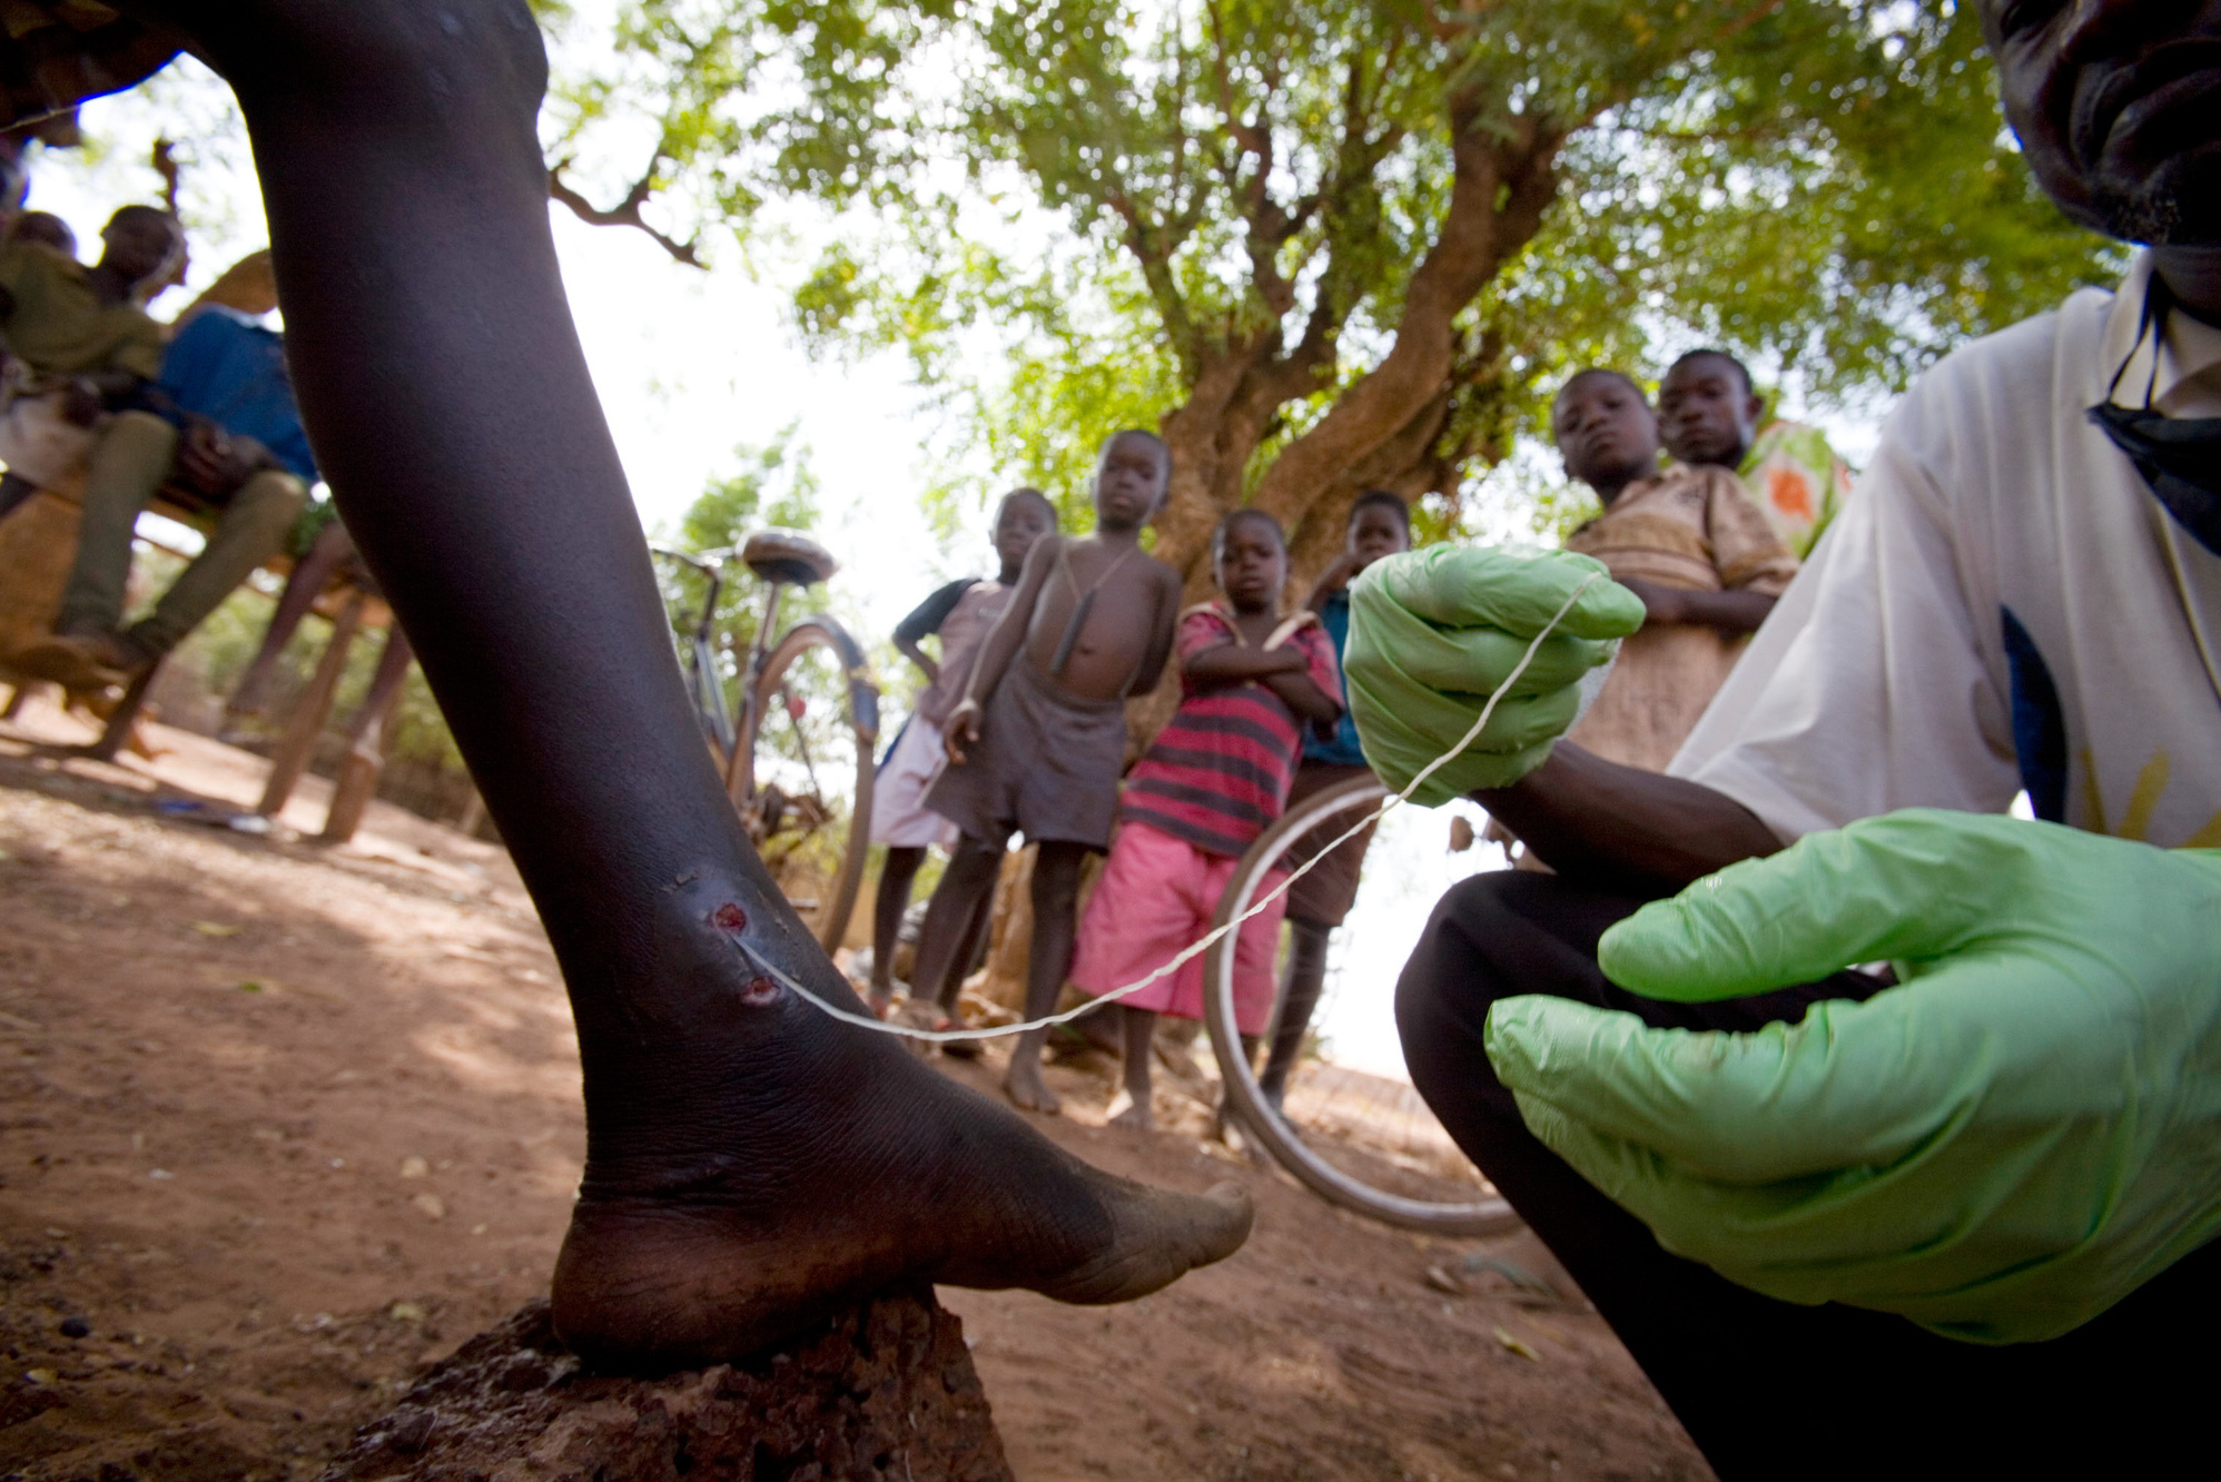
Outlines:
POLYGON ((1821 429, 1763 418, 1750 369, 1728 351, 1692 349, 1659 382, 1666 451, 1692 469, 1732 469, 1781 544, 1803 560, 1850 493, 1850 464, 1821 429))

